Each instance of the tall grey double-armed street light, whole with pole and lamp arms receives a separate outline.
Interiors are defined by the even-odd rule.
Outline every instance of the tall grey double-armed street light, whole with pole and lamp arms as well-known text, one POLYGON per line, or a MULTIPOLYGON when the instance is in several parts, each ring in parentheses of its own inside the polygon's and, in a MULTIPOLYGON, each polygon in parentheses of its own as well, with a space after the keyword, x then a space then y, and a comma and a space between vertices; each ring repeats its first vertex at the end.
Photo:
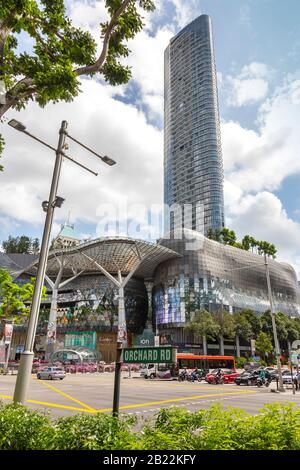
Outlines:
MULTIPOLYGON (((26 332, 25 348, 24 348, 24 352, 21 354, 20 366, 18 370, 18 376, 17 376, 15 391, 14 391, 14 398, 13 398, 14 403, 24 404, 26 402, 27 390, 29 387, 29 381, 30 381, 31 370, 32 370, 32 362, 33 362, 33 355, 34 355, 33 347, 34 347, 34 340, 35 340, 38 317, 39 317, 39 310, 40 310, 40 305, 41 305, 42 289, 43 289, 44 279, 45 279, 45 274, 46 274, 47 259, 48 259, 48 254, 49 254, 49 239, 50 239, 50 233, 52 229, 54 210, 55 210, 55 207, 61 207, 64 202, 64 198, 57 196, 57 188, 59 184, 63 158, 65 157, 68 160, 71 160, 73 163, 77 164, 81 168, 84 168, 90 173, 93 173, 96 176, 97 176, 97 173, 95 173, 93 170, 90 170, 88 167, 86 167, 82 163, 79 163, 73 158, 69 157, 63 151, 66 148, 65 141, 66 141, 66 138, 68 137, 67 121, 62 121, 61 123, 61 127, 59 130, 58 146, 56 149, 52 147, 51 145, 47 144, 46 142, 44 142, 43 140, 39 139, 38 137, 26 131, 26 126, 22 124, 21 122, 17 121, 16 119, 11 119, 8 124, 11 127, 13 127, 15 130, 25 133, 26 135, 33 138, 37 142, 40 142, 42 145, 50 148, 51 150, 54 150, 56 154, 49 201, 43 201, 42 203, 43 211, 46 212, 47 215, 45 219, 43 238, 42 238, 42 243, 41 243, 41 251, 40 251, 38 267, 37 267, 36 282, 34 285, 31 309, 30 309, 30 314, 29 314, 28 328, 26 332)), ((82 145, 78 141, 77 143, 79 145, 82 145)), ((92 153, 95 153, 95 152, 92 151, 92 153)))

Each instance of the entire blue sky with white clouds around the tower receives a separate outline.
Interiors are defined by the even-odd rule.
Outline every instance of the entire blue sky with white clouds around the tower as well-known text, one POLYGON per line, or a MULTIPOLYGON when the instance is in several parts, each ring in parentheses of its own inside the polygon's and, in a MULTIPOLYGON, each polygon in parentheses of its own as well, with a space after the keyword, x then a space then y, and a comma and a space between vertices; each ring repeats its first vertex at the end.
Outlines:
MULTIPOLYGON (((74 25, 99 43, 103 0, 67 0, 74 25)), ((104 235, 105 215, 137 221, 143 237, 148 210, 159 217, 163 200, 163 55, 172 36, 200 14, 212 17, 224 159, 226 226, 278 248, 278 260, 300 275, 300 2, 298 0, 157 0, 145 28, 129 42, 132 79, 111 87, 83 79, 72 103, 31 103, 8 118, 53 146, 62 120, 69 132, 101 155, 107 167, 74 143, 68 153, 99 171, 96 178, 63 163, 55 236, 68 214, 80 238, 104 235), (144 207, 147 207, 145 213, 144 207), (127 210, 127 212, 126 212, 127 210)), ((20 50, 30 49, 28 37, 20 50)), ((6 149, 0 174, 0 243, 8 235, 41 237, 41 203, 48 199, 54 155, 2 125, 6 149)), ((152 223, 154 220, 152 219, 152 223)), ((125 230, 125 225, 124 225, 125 230)), ((113 227, 112 227, 113 233, 113 227)), ((153 238, 157 233, 153 232, 153 238)))

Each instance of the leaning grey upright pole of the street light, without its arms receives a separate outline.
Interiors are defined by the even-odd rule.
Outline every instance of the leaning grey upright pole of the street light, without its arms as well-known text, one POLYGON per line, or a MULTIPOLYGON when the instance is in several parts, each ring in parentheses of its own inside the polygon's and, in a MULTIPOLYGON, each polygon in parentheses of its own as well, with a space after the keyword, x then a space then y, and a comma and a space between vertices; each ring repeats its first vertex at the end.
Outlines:
POLYGON ((42 289, 45 278, 46 264, 49 253, 49 239, 53 222, 53 215, 55 209, 55 199, 57 196, 57 188, 60 177, 60 170, 63 159, 63 149, 66 139, 67 122, 63 121, 59 130, 59 141, 56 150, 55 166, 52 176, 52 183, 49 195, 49 202, 47 208, 47 215, 44 225, 43 239, 41 244, 41 252, 38 262, 37 277, 33 291, 33 298, 31 303, 29 324, 26 333, 25 350, 21 354, 20 366, 17 375, 17 381, 14 391, 14 403, 24 404, 27 397, 29 381, 31 377, 31 369, 33 362, 33 346, 39 317, 39 309, 41 304, 42 289))

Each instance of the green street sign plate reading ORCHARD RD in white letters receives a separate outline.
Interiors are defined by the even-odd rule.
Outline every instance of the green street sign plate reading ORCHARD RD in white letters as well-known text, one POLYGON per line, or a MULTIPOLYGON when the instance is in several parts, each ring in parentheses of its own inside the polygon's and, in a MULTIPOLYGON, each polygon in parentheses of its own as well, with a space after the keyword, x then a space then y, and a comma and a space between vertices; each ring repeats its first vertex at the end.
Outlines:
POLYGON ((176 348, 171 347, 154 347, 154 348, 124 348, 123 362, 127 364, 133 363, 165 363, 176 362, 176 348))

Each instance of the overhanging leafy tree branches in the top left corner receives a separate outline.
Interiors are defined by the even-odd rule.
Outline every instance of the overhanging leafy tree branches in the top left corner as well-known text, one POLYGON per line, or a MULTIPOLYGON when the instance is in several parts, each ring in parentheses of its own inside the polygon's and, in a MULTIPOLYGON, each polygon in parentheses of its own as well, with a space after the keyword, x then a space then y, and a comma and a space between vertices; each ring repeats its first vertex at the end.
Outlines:
POLYGON ((63 0, 0 0, 0 79, 6 90, 0 118, 30 100, 40 106, 72 101, 81 76, 101 74, 111 85, 128 82, 131 70, 122 63, 130 52, 126 41, 143 28, 138 7, 153 11, 155 5, 153 0, 105 0, 105 7, 109 19, 100 24, 97 56, 97 43, 72 25, 63 0), (30 51, 18 52, 20 33, 33 41, 30 51))

